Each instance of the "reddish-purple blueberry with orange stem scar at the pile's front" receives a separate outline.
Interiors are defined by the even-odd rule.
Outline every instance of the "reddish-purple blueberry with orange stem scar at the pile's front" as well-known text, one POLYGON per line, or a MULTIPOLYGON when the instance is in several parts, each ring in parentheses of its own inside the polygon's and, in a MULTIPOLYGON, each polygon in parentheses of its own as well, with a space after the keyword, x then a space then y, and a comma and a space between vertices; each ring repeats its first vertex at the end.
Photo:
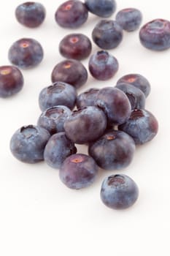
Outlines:
POLYGON ((85 154, 72 154, 67 157, 59 170, 61 181, 70 189, 89 187, 97 174, 96 162, 85 154))

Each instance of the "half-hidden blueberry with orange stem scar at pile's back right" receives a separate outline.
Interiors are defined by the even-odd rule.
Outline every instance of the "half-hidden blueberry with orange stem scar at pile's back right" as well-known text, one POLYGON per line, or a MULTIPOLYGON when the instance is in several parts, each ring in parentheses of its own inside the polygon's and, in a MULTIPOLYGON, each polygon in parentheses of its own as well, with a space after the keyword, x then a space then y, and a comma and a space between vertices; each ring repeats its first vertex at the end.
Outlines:
POLYGON ((150 94, 150 83, 146 78, 144 78, 143 75, 139 75, 139 74, 123 75, 123 77, 117 81, 117 85, 119 83, 129 83, 132 86, 135 86, 136 88, 143 91, 145 97, 147 97, 150 94))

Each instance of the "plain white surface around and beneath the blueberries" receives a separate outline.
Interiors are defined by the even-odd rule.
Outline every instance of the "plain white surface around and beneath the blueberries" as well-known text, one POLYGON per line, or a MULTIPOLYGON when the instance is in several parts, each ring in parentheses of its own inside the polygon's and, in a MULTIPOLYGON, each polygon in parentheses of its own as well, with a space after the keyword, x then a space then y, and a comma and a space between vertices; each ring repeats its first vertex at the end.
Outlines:
MULTIPOLYGON (((27 165, 12 157, 9 140, 19 127, 36 124, 41 113, 39 91, 50 85, 52 69, 63 59, 58 43, 73 32, 54 20, 63 1, 41 2, 47 18, 38 29, 27 29, 15 20, 15 7, 21 1, 6 0, 0 8, 0 65, 9 64, 8 49, 22 37, 37 39, 45 50, 38 67, 23 71, 23 90, 15 97, 0 99, 0 255, 169 255, 170 50, 152 52, 140 44, 139 31, 124 33, 123 42, 109 51, 120 63, 115 78, 98 82, 89 75, 88 83, 79 90, 115 86, 118 78, 131 72, 150 80, 152 92, 146 109, 158 118, 159 132, 150 143, 137 148, 134 161, 120 172, 139 186, 139 200, 133 207, 114 211, 101 203, 101 181, 115 171, 101 171, 93 186, 74 191, 61 183, 58 170, 44 162, 27 165)), ((117 0, 117 11, 125 7, 139 8, 142 24, 154 18, 170 19, 167 0, 117 0)), ((89 15, 88 22, 76 31, 91 37, 98 20, 89 15)), ((93 44, 93 52, 96 50, 93 44)), ((83 64, 88 68, 88 60, 83 64)), ((87 151, 78 148, 80 153, 87 151)))

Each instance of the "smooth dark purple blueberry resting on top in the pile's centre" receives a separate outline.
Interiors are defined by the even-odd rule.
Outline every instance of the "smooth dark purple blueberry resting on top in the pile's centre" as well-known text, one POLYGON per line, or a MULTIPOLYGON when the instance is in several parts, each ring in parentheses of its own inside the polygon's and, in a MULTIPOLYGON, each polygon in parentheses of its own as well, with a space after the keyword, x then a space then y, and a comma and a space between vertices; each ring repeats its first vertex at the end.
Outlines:
POLYGON ((74 111, 64 123, 66 136, 77 144, 96 140, 104 134, 106 128, 104 112, 93 106, 74 111))

